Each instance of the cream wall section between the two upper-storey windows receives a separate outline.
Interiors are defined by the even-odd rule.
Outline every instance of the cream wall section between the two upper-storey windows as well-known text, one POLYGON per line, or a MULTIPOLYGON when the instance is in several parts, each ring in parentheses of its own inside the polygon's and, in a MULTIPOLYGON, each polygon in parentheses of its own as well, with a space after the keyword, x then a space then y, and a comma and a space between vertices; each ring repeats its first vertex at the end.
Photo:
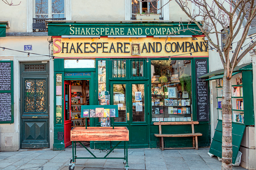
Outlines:
POLYGON ((72 20, 125 20, 125 0, 72 0, 72 20))

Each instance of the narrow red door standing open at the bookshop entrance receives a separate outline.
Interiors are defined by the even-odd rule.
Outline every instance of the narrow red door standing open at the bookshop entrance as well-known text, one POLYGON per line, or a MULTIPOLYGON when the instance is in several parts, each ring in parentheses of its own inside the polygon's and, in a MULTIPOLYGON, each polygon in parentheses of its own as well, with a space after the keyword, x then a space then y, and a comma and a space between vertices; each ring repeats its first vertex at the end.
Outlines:
POLYGON ((71 82, 64 81, 65 90, 65 110, 64 110, 64 143, 65 147, 71 145, 70 141, 70 131, 71 131, 71 82))

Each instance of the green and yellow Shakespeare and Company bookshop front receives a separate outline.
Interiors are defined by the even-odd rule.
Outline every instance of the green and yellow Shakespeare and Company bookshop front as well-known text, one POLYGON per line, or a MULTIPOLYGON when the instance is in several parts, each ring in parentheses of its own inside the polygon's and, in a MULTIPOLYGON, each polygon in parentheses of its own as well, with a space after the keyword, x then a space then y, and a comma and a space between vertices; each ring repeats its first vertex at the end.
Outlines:
MULTIPOLYGON (((210 145, 208 84, 198 79, 208 72, 203 36, 179 32, 178 23, 47 24, 55 56, 54 150, 69 145, 73 126, 102 126, 100 118, 79 119, 79 106, 108 104, 118 105, 115 126, 129 129, 130 148, 159 147, 158 121, 201 120, 198 145, 210 145)), ((191 133, 191 126, 168 125, 162 133, 191 133)), ((92 149, 103 145, 90 142, 92 149)), ((166 138, 164 145, 189 147, 192 138, 166 138)))

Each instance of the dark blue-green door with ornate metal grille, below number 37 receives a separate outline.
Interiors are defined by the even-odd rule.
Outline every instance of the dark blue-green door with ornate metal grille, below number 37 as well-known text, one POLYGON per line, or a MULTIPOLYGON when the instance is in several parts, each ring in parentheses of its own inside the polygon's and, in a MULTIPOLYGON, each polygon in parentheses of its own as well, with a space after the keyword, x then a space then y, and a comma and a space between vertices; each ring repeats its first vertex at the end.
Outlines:
POLYGON ((49 147, 49 62, 20 63, 20 120, 21 148, 49 147))

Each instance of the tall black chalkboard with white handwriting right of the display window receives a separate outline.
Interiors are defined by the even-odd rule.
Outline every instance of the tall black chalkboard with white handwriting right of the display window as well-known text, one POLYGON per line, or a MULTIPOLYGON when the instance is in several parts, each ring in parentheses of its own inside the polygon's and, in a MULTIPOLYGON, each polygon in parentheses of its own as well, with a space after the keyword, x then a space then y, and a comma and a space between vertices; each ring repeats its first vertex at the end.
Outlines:
POLYGON ((207 60, 196 59, 196 99, 197 121, 209 121, 209 92, 206 78, 199 78, 207 73, 207 60))

